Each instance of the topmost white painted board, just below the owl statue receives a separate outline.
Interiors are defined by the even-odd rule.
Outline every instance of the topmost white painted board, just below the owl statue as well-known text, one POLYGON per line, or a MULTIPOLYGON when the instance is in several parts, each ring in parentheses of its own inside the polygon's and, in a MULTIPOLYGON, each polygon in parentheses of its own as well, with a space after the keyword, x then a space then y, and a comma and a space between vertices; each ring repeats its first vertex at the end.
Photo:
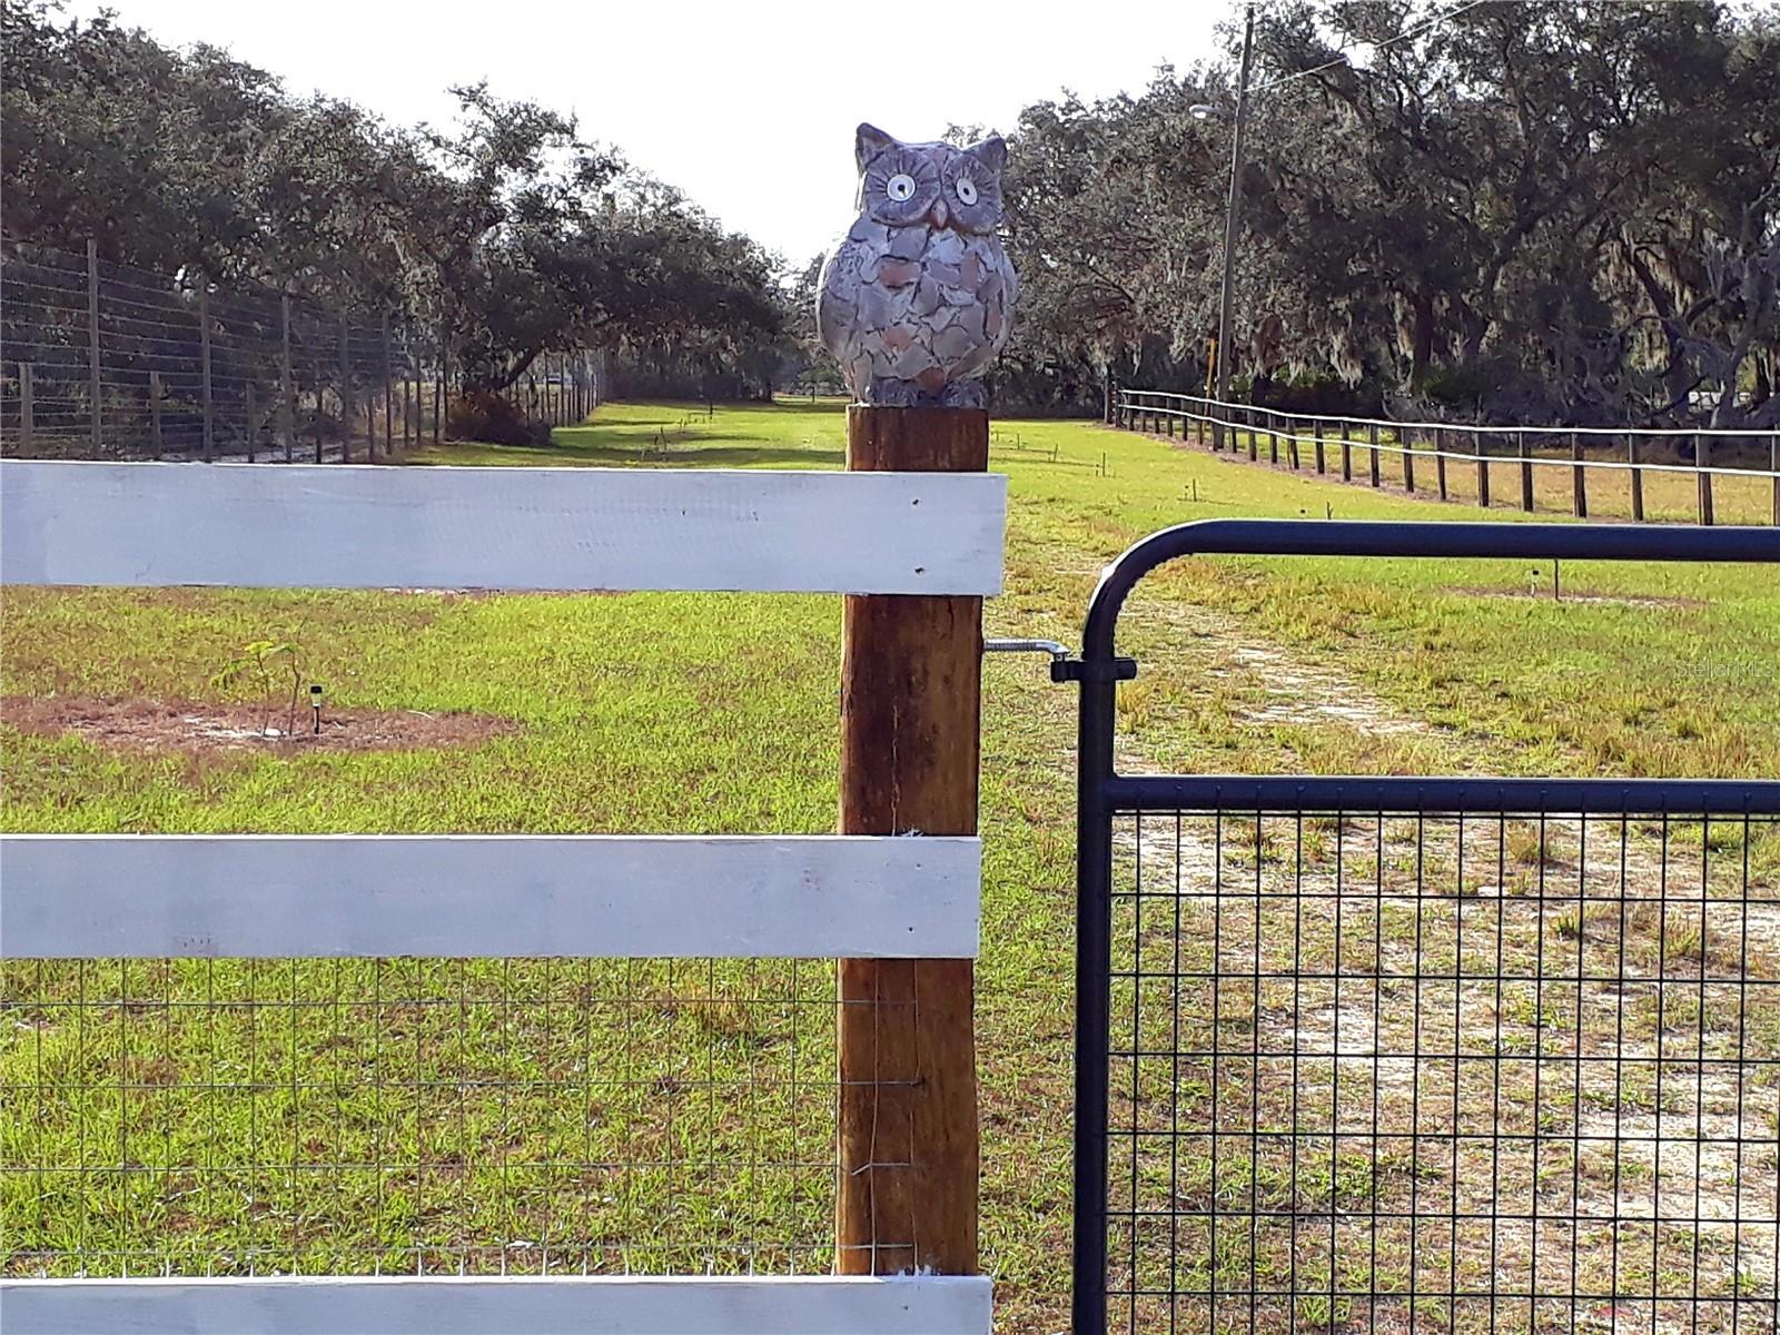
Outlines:
POLYGON ((1007 479, 0 463, 5 584, 995 595, 1007 479))

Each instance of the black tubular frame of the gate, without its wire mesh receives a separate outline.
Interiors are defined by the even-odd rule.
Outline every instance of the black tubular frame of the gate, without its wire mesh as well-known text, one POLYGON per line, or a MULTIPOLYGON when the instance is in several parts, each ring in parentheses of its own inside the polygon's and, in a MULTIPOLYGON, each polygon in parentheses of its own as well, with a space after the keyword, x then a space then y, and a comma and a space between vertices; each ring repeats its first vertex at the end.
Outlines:
POLYGON ((1088 602, 1082 653, 1052 664, 1080 684, 1075 842, 1075 1241, 1070 1326, 1105 1335, 1107 1096, 1112 970, 1112 819, 1121 812, 1392 810, 1420 813, 1780 815, 1780 781, 1120 774, 1114 694, 1137 676, 1114 646, 1120 611, 1157 566, 1189 555, 1447 557, 1538 561, 1723 561, 1780 564, 1775 529, 1648 529, 1632 523, 1198 520, 1162 529, 1105 568, 1088 602))

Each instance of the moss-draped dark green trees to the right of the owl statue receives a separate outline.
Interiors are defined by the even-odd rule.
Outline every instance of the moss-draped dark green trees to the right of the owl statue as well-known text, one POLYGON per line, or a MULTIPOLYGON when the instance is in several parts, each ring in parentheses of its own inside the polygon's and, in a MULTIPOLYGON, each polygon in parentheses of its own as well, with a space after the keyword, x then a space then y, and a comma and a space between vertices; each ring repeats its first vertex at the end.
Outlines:
MULTIPOLYGON (((1255 43, 1232 363, 1253 393, 1776 420, 1780 9, 1292 0, 1255 43)), ((1022 112, 1006 376, 1203 384, 1230 126, 1189 107, 1234 107, 1234 69, 1022 112)))

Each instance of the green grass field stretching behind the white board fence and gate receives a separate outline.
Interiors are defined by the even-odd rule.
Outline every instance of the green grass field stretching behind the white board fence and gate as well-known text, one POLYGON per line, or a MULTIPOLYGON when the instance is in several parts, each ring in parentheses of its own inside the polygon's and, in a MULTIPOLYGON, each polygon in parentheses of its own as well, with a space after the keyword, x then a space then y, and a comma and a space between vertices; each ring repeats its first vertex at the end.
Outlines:
MULTIPOLYGON (((833 404, 710 418, 614 404, 550 449, 457 445, 415 463, 835 468, 842 438, 833 404)), ((1009 424, 991 454, 1011 516, 990 634, 1073 643, 1096 571, 1166 523, 1483 518, 1089 424, 1009 424)), ((1180 562, 1145 582, 1121 625, 1143 662, 1120 696, 1121 753, 1171 771, 1780 773, 1771 573, 1566 564, 1563 600, 1550 575, 1180 562)), ((9 700, 244 705, 251 687, 224 700, 212 676, 274 639, 299 648, 335 708, 511 726, 466 748, 160 753, 7 726, 4 824, 826 831, 838 628, 838 600, 794 596, 12 589, 9 700)), ((1072 746, 1073 696, 1038 662, 991 659, 984 1258, 999 1324, 1020 1331, 1061 1328, 1068 1294, 1072 746)), ((1771 897, 1780 840, 1719 837, 1714 851, 1746 851, 1750 885, 1771 897)), ((1543 838, 1527 838, 1511 860, 1538 870, 1543 838)), ((1659 911, 1643 931, 1668 940, 1670 922, 1659 911)), ((12 1273, 829 1260, 821 963, 27 961, 5 967, 4 1004, 12 1273)))

